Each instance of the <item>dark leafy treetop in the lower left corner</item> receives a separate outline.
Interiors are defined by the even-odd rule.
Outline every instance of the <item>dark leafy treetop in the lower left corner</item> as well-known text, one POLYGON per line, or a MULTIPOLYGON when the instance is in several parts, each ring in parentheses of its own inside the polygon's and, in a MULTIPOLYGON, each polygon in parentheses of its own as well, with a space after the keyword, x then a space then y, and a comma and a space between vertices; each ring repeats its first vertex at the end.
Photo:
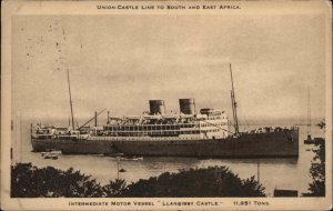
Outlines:
POLYGON ((11 167, 12 198, 94 198, 102 194, 102 188, 94 179, 72 168, 67 171, 52 167, 39 169, 31 163, 11 167))

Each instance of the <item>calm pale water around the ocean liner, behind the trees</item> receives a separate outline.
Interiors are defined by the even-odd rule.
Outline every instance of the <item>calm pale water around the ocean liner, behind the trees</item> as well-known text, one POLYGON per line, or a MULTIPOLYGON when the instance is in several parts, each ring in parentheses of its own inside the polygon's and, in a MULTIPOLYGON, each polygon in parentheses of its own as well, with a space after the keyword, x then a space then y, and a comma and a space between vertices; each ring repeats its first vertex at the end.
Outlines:
MULTIPOLYGON (((117 158, 102 155, 59 155, 58 160, 43 159, 40 153, 31 152, 30 122, 22 121, 22 127, 14 125, 12 132, 13 160, 16 162, 31 162, 37 167, 54 167, 67 170, 74 168, 84 174, 95 178, 101 184, 118 178, 117 158)), ((324 131, 312 128, 313 137, 324 137, 324 131)), ((120 169, 127 170, 119 173, 121 179, 129 182, 139 179, 157 177, 162 172, 178 172, 179 169, 205 168, 212 165, 226 165, 240 178, 258 177, 265 187, 270 197, 274 189, 294 189, 299 194, 307 191, 312 181, 309 170, 314 153, 314 145, 303 143, 306 138, 306 127, 300 128, 300 157, 299 159, 196 159, 196 158, 149 158, 143 160, 122 160, 120 169), (259 165, 258 165, 259 163, 259 165), (259 167, 259 168, 258 168, 259 167)))

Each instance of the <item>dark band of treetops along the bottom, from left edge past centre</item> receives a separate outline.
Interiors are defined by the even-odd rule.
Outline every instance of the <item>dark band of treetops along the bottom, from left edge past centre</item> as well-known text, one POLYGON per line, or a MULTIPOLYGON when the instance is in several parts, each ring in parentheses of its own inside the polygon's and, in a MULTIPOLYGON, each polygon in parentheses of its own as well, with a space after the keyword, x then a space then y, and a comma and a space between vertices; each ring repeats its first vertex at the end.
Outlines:
POLYGON ((265 197, 254 177, 242 180, 226 167, 180 170, 127 184, 111 180, 101 185, 72 168, 62 171, 31 163, 11 167, 12 198, 112 198, 112 197, 265 197))

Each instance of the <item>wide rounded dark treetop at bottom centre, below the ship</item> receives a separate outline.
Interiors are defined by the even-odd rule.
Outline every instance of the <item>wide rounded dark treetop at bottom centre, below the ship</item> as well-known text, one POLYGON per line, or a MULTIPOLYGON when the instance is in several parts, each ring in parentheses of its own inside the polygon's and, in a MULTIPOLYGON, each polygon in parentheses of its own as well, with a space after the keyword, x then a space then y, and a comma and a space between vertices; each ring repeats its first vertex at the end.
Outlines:
POLYGON ((122 197, 265 197, 263 190, 254 177, 241 180, 226 167, 210 167, 139 180, 122 197))

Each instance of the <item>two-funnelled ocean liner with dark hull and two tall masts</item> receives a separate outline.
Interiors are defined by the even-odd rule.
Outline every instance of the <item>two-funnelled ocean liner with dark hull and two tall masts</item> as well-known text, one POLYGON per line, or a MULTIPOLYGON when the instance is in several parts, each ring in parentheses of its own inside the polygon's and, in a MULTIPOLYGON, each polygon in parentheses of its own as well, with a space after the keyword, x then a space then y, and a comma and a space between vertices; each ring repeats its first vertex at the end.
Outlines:
POLYGON ((150 100, 142 115, 109 117, 102 125, 98 115, 81 127, 74 125, 70 80, 71 127, 31 124, 34 152, 60 150, 69 154, 125 154, 159 157, 261 158, 299 157, 299 128, 264 127, 239 130, 235 93, 231 73, 233 132, 222 110, 196 111, 194 99, 180 99, 180 113, 165 113, 163 100, 150 100), (88 127, 92 120, 94 125, 88 127))

